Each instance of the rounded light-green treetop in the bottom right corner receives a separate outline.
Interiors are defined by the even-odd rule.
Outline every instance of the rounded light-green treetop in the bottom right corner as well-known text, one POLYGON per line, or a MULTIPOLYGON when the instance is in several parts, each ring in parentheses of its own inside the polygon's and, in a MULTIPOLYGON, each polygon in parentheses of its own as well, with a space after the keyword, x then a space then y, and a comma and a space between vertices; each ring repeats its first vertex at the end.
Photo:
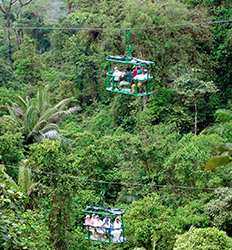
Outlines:
POLYGON ((232 249, 232 239, 217 228, 192 228, 177 237, 173 250, 232 249))

